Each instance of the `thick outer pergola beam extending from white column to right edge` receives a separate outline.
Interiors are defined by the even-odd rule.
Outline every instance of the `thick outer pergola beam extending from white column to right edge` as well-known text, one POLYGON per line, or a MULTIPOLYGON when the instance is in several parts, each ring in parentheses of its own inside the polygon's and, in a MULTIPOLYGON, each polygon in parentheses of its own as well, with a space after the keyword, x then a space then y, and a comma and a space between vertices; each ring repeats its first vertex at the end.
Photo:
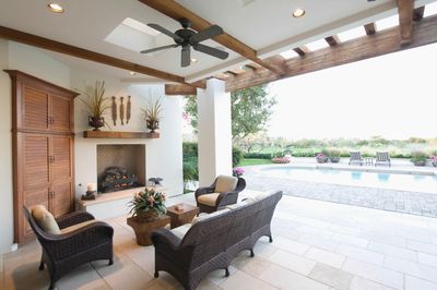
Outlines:
POLYGON ((399 44, 399 27, 381 31, 373 37, 363 36, 335 47, 319 49, 305 58, 286 61, 286 73, 277 76, 261 68, 226 81, 226 92, 251 87, 285 77, 292 77, 328 68, 361 61, 382 55, 437 43, 437 15, 423 19, 413 27, 414 38, 410 44, 399 44))

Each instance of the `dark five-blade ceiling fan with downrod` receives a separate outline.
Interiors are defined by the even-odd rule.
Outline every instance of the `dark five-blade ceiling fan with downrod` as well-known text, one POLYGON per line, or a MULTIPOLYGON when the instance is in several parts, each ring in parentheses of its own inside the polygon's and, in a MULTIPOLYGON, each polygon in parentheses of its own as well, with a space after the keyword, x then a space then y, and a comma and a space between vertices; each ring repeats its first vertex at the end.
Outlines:
POLYGON ((145 49, 145 50, 142 50, 141 53, 150 53, 150 52, 158 51, 162 49, 175 48, 175 47, 180 46, 180 47, 182 47, 181 59, 180 59, 180 64, 182 68, 186 68, 186 67, 190 65, 190 63, 191 63, 191 57, 190 57, 191 47, 194 50, 198 50, 200 52, 210 55, 210 56, 218 58, 218 59, 226 59, 229 56, 229 53, 227 53, 226 51, 200 44, 203 40, 206 40, 206 39, 210 39, 212 37, 223 34, 223 29, 218 25, 211 25, 206 29, 203 29, 203 31, 197 33, 197 32, 190 29, 191 22, 189 20, 181 19, 179 21, 179 23, 180 23, 180 25, 182 25, 184 28, 178 29, 175 33, 172 33, 170 31, 164 28, 163 26, 161 26, 158 24, 153 24, 153 23, 147 24, 150 27, 172 37, 176 44, 168 45, 168 46, 162 46, 162 47, 155 47, 155 48, 151 48, 151 49, 145 49))

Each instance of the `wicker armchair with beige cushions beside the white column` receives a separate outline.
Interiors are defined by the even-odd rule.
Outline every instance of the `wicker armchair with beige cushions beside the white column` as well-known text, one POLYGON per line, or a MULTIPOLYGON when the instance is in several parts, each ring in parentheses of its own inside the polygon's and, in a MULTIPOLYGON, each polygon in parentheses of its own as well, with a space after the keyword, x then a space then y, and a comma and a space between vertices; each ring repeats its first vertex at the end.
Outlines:
POLYGON ((246 188, 243 178, 220 176, 210 186, 199 188, 194 192, 200 213, 213 213, 226 205, 235 204, 238 193, 246 188))

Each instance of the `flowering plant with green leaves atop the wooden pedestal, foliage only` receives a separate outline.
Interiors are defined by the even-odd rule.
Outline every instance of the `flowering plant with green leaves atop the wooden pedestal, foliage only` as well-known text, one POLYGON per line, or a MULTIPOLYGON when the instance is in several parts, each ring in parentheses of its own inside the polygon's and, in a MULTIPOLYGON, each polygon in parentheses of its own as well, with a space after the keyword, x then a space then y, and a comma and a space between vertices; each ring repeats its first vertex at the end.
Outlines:
POLYGON ((156 191, 153 188, 145 188, 143 191, 137 193, 133 200, 129 202, 129 206, 131 207, 129 214, 132 214, 132 217, 143 219, 151 219, 164 215, 167 213, 165 201, 165 193, 156 191))

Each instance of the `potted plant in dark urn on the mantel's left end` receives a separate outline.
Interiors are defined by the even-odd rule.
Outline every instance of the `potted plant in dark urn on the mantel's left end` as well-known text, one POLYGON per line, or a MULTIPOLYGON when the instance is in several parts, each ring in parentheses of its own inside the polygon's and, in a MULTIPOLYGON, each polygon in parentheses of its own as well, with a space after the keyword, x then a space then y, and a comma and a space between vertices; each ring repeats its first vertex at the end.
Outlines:
POLYGON ((102 126, 107 124, 103 114, 109 109, 109 98, 104 97, 105 95, 105 82, 96 81, 95 86, 85 85, 85 90, 78 89, 85 98, 80 98, 88 109, 88 125, 93 131, 99 131, 102 126))

